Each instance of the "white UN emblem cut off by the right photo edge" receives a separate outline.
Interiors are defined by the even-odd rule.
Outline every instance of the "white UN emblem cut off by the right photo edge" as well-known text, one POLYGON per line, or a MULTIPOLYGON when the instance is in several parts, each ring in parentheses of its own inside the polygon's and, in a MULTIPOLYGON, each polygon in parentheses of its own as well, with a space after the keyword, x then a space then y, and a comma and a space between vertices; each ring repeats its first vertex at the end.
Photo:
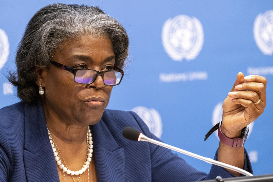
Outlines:
POLYGON ((254 39, 265 55, 273 53, 273 10, 259 14, 253 26, 254 39))

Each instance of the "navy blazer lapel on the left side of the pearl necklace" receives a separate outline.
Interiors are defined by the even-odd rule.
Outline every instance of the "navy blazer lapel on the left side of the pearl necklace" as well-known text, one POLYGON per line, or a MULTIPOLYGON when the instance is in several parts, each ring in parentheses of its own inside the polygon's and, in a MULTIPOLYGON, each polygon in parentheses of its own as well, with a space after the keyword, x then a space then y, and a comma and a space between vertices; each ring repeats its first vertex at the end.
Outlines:
POLYGON ((28 182, 59 182, 42 103, 25 105, 24 166, 28 182))

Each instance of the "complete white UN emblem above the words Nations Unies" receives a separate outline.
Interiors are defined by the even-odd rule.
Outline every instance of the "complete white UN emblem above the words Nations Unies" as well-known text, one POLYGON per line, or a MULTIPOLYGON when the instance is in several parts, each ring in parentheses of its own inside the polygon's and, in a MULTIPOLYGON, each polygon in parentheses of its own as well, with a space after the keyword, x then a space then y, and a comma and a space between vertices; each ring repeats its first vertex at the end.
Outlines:
POLYGON ((197 18, 186 15, 169 18, 161 36, 165 51, 174 61, 195 59, 204 43, 202 24, 197 18))

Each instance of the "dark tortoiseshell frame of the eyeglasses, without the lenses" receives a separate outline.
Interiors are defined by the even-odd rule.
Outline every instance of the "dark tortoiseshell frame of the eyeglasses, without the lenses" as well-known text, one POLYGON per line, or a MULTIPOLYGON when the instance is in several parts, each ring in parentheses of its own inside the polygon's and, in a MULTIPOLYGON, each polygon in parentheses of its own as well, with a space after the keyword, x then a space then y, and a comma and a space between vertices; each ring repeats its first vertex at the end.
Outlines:
POLYGON ((121 78, 120 78, 119 83, 117 83, 117 84, 106 84, 106 83, 104 82, 104 79, 103 79, 104 85, 115 86, 115 85, 120 84, 120 82, 121 82, 121 80, 122 80, 122 78, 123 78, 123 75, 124 75, 124 71, 123 71, 122 69, 116 67, 115 65, 114 65, 114 67, 113 67, 114 70, 96 71, 96 70, 93 70, 93 69, 75 69, 75 68, 71 68, 71 67, 69 67, 69 66, 67 66, 67 65, 63 65, 63 64, 61 64, 61 63, 57 63, 57 62, 52 61, 52 60, 50 61, 50 63, 53 64, 53 65, 56 66, 56 67, 59 67, 59 68, 61 68, 61 69, 63 69, 63 70, 66 70, 66 71, 69 71, 69 72, 73 73, 73 74, 74 74, 74 82, 76 82, 75 77, 76 77, 76 72, 77 72, 78 70, 92 70, 92 71, 95 71, 95 72, 96 72, 96 76, 93 78, 92 82, 90 82, 90 83, 79 83, 79 82, 76 82, 76 83, 79 83, 79 84, 91 84, 91 83, 93 83, 93 82, 97 79, 98 76, 102 76, 102 79, 103 79, 104 73, 110 72, 110 71, 117 71, 117 72, 120 72, 120 73, 121 73, 121 78))

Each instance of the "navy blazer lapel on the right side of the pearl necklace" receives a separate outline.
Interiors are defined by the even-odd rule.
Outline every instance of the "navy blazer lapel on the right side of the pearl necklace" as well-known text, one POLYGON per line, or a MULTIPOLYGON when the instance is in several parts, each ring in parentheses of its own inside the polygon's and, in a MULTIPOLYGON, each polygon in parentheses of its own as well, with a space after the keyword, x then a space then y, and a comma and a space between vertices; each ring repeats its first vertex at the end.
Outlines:
POLYGON ((91 131, 98 181, 124 181, 124 149, 119 148, 103 120, 91 125, 91 131))

